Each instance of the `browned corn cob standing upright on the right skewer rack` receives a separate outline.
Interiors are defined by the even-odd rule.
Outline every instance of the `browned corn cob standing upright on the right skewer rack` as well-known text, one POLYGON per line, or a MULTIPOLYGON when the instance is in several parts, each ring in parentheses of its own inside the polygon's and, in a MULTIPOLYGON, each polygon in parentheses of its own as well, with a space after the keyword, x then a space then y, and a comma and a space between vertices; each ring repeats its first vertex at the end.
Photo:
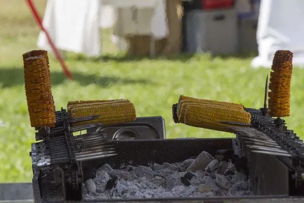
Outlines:
POLYGON ((270 74, 268 108, 272 117, 290 115, 290 83, 293 53, 278 50, 275 53, 270 74))

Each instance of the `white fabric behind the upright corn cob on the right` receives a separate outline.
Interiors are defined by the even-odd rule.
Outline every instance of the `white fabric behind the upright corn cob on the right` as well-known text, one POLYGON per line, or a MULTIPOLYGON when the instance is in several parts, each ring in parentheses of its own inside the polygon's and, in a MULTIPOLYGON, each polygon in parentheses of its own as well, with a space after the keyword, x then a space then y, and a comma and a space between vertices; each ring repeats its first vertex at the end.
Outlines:
POLYGON ((261 0, 257 27, 258 56, 251 66, 270 67, 277 50, 290 50, 293 64, 304 66, 304 1, 261 0))

